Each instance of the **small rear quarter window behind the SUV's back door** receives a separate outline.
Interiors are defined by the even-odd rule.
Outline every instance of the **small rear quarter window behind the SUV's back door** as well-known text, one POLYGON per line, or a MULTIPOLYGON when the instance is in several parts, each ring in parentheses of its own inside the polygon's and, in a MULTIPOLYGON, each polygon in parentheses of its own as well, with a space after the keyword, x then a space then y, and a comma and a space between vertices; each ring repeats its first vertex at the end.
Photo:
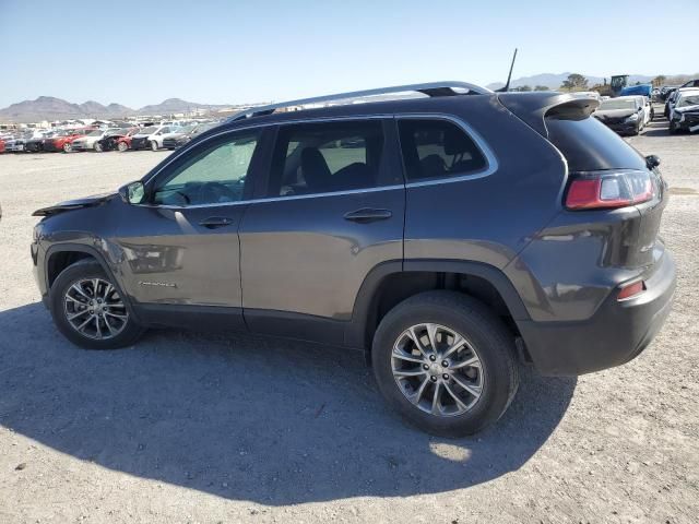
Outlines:
POLYGON ((446 120, 399 120, 408 181, 462 176, 484 169, 485 156, 458 126, 446 120))

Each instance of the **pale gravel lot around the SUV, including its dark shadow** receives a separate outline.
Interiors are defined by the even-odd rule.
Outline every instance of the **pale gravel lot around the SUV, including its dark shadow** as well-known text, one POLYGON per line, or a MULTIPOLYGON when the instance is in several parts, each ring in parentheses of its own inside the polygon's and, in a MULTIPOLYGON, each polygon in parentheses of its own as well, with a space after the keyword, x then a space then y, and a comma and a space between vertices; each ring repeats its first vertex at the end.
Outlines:
POLYGON ((621 368, 525 372, 503 419, 458 441, 404 427, 330 347, 183 332, 71 346, 38 303, 29 214, 165 153, 0 156, 0 522, 697 522, 699 135, 656 124, 630 142, 672 187, 667 324, 621 368))

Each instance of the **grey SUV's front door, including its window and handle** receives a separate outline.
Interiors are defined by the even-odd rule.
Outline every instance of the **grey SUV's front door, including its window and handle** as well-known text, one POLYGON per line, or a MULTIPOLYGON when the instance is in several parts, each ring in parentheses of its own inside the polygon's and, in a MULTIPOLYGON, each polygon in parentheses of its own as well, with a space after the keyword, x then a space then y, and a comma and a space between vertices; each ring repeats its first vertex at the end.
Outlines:
POLYGON ((242 326, 238 227, 258 143, 257 131, 203 141, 129 210, 118 238, 125 287, 147 321, 220 312, 227 326, 242 326))

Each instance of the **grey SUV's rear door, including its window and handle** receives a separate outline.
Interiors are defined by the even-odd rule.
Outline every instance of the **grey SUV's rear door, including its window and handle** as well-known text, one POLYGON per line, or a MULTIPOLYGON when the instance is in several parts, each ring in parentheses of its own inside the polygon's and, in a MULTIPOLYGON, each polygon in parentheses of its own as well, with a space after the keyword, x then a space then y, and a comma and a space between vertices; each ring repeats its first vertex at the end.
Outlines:
POLYGON ((239 229, 250 331, 341 343, 367 274, 402 263, 405 195, 390 121, 279 127, 266 183, 239 229))

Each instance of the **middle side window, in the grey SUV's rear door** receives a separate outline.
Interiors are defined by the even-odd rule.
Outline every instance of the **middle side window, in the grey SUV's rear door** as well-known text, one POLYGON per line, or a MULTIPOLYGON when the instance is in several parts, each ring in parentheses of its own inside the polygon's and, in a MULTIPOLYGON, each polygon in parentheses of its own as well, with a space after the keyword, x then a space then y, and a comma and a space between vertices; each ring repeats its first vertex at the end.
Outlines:
POLYGON ((282 126, 270 195, 377 187, 382 153, 379 120, 282 126))

